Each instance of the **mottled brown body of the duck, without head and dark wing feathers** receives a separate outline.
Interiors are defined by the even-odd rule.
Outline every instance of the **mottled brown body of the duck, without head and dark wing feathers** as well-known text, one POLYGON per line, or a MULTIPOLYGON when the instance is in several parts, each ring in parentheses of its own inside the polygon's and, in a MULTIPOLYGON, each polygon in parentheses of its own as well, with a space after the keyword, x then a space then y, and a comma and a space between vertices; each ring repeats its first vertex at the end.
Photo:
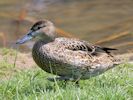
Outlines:
POLYGON ((90 56, 85 50, 75 49, 75 45, 80 48, 84 42, 69 38, 56 38, 47 44, 38 41, 33 47, 33 59, 46 72, 81 79, 98 75, 115 66, 115 59, 106 52, 90 56))

